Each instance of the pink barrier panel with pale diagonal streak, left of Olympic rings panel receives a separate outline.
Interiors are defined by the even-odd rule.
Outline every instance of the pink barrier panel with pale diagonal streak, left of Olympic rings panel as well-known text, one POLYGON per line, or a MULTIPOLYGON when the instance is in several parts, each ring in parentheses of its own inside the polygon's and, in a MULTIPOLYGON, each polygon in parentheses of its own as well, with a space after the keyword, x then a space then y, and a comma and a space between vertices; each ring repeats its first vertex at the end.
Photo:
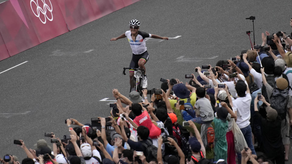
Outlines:
POLYGON ((0 4, 0 33, 10 56, 40 44, 21 0, 0 4))

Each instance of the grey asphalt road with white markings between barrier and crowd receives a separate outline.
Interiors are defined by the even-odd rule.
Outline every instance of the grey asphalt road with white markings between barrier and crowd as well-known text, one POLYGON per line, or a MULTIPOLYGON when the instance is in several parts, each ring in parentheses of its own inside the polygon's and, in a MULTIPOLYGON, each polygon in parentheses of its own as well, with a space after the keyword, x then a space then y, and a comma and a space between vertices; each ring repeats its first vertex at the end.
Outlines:
POLYGON ((100 100, 114 100, 113 88, 128 96, 129 77, 122 68, 132 56, 127 39, 110 38, 127 31, 131 19, 141 22, 141 31, 180 36, 146 41, 148 88, 158 88, 161 77, 186 82, 184 75, 196 66, 213 66, 249 49, 246 31, 253 29, 245 18, 251 15, 258 44, 266 30, 290 33, 291 15, 281 4, 290 1, 141 0, 0 61, 0 72, 28 61, 0 74, 0 156, 25 158, 14 139, 32 148, 45 132, 68 134, 67 118, 87 123, 91 117, 109 116, 109 101, 100 100))

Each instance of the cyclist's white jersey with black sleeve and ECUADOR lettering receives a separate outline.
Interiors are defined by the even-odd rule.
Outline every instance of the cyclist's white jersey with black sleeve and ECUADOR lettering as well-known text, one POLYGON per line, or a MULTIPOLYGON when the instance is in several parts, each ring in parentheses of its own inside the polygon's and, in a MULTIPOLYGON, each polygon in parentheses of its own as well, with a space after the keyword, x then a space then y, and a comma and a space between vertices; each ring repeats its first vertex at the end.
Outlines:
POLYGON ((151 34, 138 31, 135 41, 132 40, 131 31, 126 31, 125 35, 127 36, 131 49, 135 55, 140 55, 147 50, 145 38, 151 38, 151 34))

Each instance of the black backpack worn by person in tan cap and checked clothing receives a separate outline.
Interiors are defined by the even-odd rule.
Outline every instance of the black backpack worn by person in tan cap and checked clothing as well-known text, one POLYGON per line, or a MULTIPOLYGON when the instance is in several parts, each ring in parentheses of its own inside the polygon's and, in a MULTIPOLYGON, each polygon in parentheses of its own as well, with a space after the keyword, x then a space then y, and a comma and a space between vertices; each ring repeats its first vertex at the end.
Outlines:
POLYGON ((275 109, 279 116, 281 116, 281 119, 286 118, 287 113, 287 100, 289 98, 289 89, 287 90, 279 90, 278 88, 275 88, 273 90, 273 93, 270 97, 270 104, 273 109, 275 109))

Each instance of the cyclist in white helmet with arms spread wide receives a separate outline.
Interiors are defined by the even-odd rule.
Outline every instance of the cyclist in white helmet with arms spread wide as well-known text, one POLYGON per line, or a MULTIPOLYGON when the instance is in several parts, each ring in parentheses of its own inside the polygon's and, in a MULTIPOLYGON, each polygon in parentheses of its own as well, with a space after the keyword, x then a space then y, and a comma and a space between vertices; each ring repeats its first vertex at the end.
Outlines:
MULTIPOLYGON (((126 31, 122 35, 116 38, 110 39, 110 41, 114 41, 117 39, 125 38, 127 37, 130 46, 133 51, 133 56, 132 60, 130 62, 130 68, 142 68, 145 70, 144 76, 143 76, 143 83, 142 83, 142 88, 147 88, 147 77, 146 77, 146 69, 145 69, 145 64, 148 61, 148 52, 147 52, 147 47, 145 43, 145 38, 155 38, 155 39, 166 39, 168 40, 168 37, 161 37, 158 35, 154 34, 148 34, 147 32, 142 32, 138 31, 140 27, 140 22, 137 21, 136 19, 133 19, 129 23, 130 30, 126 31)), ((131 79, 134 76, 134 70, 129 70, 130 71, 130 85, 131 79)), ((133 86, 131 86, 133 87, 133 86)))

